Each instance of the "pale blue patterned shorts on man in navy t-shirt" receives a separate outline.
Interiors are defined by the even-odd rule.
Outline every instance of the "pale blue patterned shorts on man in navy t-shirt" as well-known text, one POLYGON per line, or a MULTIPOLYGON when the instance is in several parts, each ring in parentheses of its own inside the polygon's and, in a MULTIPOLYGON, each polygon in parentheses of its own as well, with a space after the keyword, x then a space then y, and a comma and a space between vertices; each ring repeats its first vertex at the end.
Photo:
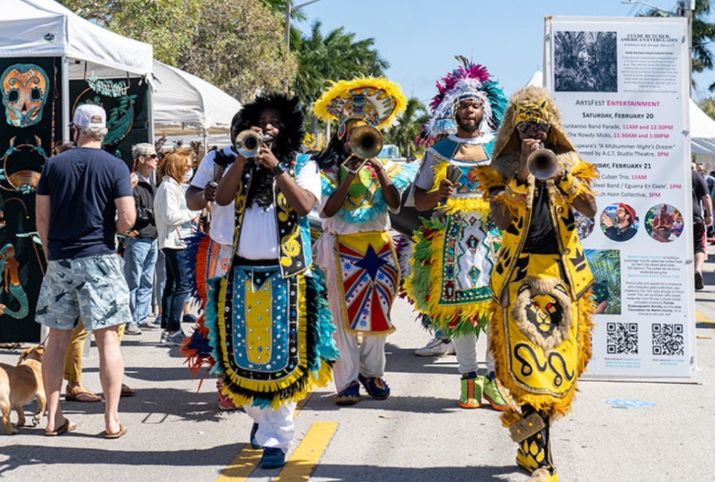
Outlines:
POLYGON ((58 330, 72 330, 82 318, 85 330, 129 323, 129 287, 117 255, 47 262, 35 320, 58 330))

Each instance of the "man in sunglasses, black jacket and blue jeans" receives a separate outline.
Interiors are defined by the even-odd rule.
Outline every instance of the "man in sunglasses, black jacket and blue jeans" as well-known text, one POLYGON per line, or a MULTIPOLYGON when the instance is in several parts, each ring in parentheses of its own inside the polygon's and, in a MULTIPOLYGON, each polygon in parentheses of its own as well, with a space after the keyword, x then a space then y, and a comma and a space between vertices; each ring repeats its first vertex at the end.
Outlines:
POLYGON ((142 333, 152 307, 154 266, 157 264, 157 222, 154 220, 154 182, 151 177, 157 170, 159 156, 152 144, 142 143, 132 147, 132 158, 137 174, 134 186, 134 204, 137 222, 126 237, 124 248, 124 275, 129 285, 129 308, 132 322, 127 325, 129 335, 142 333))

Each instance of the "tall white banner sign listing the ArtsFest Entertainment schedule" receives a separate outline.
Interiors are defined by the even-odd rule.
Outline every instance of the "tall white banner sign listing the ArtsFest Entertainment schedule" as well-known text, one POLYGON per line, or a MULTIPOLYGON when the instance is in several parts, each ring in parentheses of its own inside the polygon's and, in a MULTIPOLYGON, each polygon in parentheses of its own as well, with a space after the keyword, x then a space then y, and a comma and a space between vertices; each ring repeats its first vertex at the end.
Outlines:
POLYGON ((596 283, 587 378, 694 381, 686 19, 546 19, 546 88, 598 214, 577 217, 596 283))

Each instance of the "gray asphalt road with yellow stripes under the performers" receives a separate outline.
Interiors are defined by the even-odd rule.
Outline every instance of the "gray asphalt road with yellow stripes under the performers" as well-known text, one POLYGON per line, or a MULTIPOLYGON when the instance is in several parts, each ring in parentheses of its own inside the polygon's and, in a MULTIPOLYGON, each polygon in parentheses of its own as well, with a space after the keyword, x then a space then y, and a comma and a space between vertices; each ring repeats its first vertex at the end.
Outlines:
MULTIPOLYGON (((708 286, 696 294, 702 383, 582 381, 573 413, 552 428, 561 481, 715 481, 714 267, 709 260, 708 286), (606 403, 613 398, 655 405, 614 408, 606 403)), ((152 329, 122 343, 126 382, 138 390, 120 405, 129 433, 104 440, 102 403, 63 402, 77 431, 44 437, 43 421, 0 435, 0 481, 302 481, 308 473, 310 481, 346 482, 526 479, 498 413, 458 408, 455 357, 416 357, 413 350, 429 335, 401 300, 394 318, 398 331, 388 339, 385 375, 393 396, 337 408, 332 386, 313 393, 296 415, 295 448, 282 471, 255 468, 260 453, 246 448, 250 418, 217 412, 213 379, 199 387, 177 348, 159 345, 159 330, 152 329)), ((478 353, 485 353, 484 340, 478 353)), ((0 350, 0 361, 15 363, 17 355, 0 350)), ((93 347, 84 383, 97 392, 98 363, 93 347)))

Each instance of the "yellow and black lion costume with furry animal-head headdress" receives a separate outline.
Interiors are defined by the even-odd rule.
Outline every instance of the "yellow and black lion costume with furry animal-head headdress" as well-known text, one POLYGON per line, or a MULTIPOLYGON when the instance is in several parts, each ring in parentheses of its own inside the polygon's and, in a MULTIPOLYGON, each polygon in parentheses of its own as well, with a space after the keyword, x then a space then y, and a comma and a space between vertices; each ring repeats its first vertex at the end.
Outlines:
POLYGON ((493 210, 511 215, 492 271, 489 325, 498 378, 521 406, 505 413, 503 422, 519 443, 517 463, 533 473, 530 480, 556 481, 549 425, 570 410, 578 376, 591 358, 593 277, 576 233, 573 202, 580 196, 593 202, 596 169, 578 156, 546 90, 525 87, 511 98, 494 160, 478 177, 493 210), (546 181, 529 174, 520 182, 516 128, 541 122, 551 127, 544 144, 556 154, 558 174, 546 181))

